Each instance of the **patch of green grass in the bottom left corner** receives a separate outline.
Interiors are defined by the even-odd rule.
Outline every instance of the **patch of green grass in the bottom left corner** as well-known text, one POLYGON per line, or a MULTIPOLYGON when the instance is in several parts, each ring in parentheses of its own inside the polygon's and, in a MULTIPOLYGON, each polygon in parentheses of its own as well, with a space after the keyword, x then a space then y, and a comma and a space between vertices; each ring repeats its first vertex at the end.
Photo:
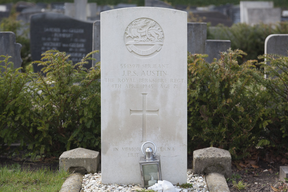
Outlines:
POLYGON ((59 191, 70 174, 42 168, 36 171, 22 170, 19 164, 0 167, 0 191, 59 191))

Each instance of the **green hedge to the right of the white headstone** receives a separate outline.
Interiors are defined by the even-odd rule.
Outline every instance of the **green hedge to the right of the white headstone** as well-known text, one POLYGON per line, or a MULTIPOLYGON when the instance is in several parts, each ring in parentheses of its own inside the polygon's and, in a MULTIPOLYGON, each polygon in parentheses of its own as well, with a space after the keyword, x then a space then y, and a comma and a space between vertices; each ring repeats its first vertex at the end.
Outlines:
POLYGON ((240 50, 221 53, 207 63, 203 55, 188 56, 188 149, 203 146, 230 151, 234 159, 249 150, 287 150, 288 57, 261 56, 270 65, 249 60, 239 64, 240 50), (255 65, 262 65, 264 71, 255 65), (279 75, 279 70, 282 73, 279 75), (273 77, 273 78, 271 78, 273 77))

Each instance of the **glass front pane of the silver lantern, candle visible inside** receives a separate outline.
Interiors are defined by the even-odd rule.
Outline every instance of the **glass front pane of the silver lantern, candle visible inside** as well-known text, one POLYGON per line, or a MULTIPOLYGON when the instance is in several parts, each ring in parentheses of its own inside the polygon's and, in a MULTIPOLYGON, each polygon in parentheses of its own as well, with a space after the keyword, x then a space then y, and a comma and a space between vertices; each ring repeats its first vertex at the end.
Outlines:
POLYGON ((158 163, 143 164, 142 170, 143 170, 144 187, 149 187, 157 183, 157 181, 159 180, 158 163))

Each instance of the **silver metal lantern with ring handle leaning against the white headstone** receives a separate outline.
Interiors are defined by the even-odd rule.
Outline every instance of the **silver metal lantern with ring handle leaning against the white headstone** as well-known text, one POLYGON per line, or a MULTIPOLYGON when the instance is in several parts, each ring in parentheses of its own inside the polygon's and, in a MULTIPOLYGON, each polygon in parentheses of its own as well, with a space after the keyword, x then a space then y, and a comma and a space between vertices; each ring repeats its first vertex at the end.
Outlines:
POLYGON ((160 157, 157 157, 156 155, 157 148, 153 142, 147 141, 143 143, 141 150, 143 152, 143 156, 140 158, 139 164, 142 177, 142 187, 147 188, 157 183, 158 180, 162 180, 160 157), (151 143, 154 145, 154 153, 151 147, 147 147, 144 153, 143 147, 146 143, 151 143))

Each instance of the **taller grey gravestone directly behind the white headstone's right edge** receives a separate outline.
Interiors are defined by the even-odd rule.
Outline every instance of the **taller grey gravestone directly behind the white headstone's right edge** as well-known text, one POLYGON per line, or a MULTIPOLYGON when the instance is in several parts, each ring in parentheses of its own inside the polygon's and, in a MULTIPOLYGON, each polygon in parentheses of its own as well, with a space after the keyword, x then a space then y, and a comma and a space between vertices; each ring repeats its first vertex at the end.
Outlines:
POLYGON ((187 23, 187 51, 191 54, 204 54, 207 38, 206 23, 187 23))

